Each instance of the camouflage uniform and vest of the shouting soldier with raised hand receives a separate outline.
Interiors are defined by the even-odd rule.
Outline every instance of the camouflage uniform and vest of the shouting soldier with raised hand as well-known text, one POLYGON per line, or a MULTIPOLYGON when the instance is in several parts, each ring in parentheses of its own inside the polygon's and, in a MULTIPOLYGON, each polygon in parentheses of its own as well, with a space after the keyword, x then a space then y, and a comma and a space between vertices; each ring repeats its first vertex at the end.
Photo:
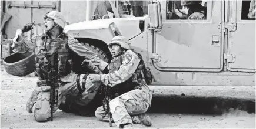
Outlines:
POLYGON ((61 53, 58 55, 58 65, 59 67, 63 66, 61 69, 59 68, 60 77, 57 82, 59 86, 56 88, 58 90, 58 103, 54 106, 54 112, 58 109, 64 96, 77 96, 82 93, 84 97, 87 97, 87 99, 84 99, 84 104, 88 104, 94 98, 100 83, 91 82, 91 80, 88 80, 88 77, 90 77, 88 75, 84 78, 85 85, 82 84, 84 75, 72 72, 72 65, 76 62, 72 63, 71 53, 84 56, 85 59, 91 60, 95 66, 103 70, 107 63, 101 60, 96 53, 82 46, 76 39, 68 36, 67 33, 62 32, 56 39, 49 38, 46 33, 26 39, 24 35, 19 35, 19 33, 21 33, 20 29, 17 30, 12 50, 14 52, 32 50, 36 58, 39 59, 36 63, 36 72, 39 76, 37 86, 26 104, 27 111, 34 114, 36 121, 47 121, 51 113, 49 104, 50 86, 46 82, 48 76, 41 69, 41 67, 45 66, 44 69, 46 71, 49 70, 49 66, 47 67, 46 65, 48 62, 46 54, 48 53, 61 53), (64 58, 64 62, 68 63, 63 63, 62 58, 64 58), (86 90, 84 93, 79 86, 85 86, 86 90))

